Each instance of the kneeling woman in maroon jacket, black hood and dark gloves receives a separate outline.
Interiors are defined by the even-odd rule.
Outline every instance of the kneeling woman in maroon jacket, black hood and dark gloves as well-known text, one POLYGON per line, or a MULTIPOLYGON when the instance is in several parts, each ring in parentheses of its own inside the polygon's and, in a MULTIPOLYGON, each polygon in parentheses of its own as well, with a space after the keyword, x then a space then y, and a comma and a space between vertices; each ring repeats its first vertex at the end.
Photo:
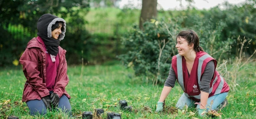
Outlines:
POLYGON ((22 101, 27 103, 30 115, 44 115, 47 109, 56 107, 71 115, 68 100, 71 97, 65 90, 69 82, 66 50, 59 46, 65 37, 66 21, 44 14, 38 20, 37 29, 38 37, 28 42, 20 57, 27 79, 22 101))

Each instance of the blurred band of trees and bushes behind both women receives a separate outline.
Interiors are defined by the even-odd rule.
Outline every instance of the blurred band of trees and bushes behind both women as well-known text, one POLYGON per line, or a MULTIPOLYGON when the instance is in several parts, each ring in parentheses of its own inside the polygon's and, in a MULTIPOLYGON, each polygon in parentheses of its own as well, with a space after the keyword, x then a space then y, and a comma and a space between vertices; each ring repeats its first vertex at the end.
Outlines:
POLYGON ((166 78, 177 53, 175 35, 184 29, 196 31, 200 45, 218 61, 236 56, 238 36, 252 39, 244 55, 256 50, 256 0, 167 11, 157 7, 157 0, 141 1, 139 8, 130 3, 120 9, 120 0, 0 0, 0 66, 18 65, 26 44, 36 37, 37 20, 46 13, 67 21, 60 46, 67 50, 69 65, 81 64, 82 58, 91 65, 121 60, 154 82, 166 78))

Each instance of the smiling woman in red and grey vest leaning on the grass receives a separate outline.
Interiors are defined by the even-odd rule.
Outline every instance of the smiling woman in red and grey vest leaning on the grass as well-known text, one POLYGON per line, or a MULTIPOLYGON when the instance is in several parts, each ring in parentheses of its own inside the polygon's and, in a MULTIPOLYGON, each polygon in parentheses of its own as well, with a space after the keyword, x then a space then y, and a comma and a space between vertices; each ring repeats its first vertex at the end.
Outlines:
POLYGON ((195 31, 181 31, 176 37, 178 55, 172 57, 169 76, 164 84, 156 112, 163 110, 163 102, 174 87, 177 79, 184 91, 176 107, 183 109, 185 105, 197 105, 198 114, 210 106, 218 110, 226 102, 229 86, 216 71, 217 61, 199 46, 199 38, 195 31))

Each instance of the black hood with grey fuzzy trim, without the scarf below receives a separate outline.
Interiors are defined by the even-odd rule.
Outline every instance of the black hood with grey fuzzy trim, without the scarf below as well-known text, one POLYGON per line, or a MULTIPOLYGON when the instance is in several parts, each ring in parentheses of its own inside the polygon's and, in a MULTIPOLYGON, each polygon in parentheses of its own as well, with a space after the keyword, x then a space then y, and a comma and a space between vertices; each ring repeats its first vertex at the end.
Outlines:
POLYGON ((52 14, 44 14, 42 15, 37 22, 37 35, 40 37, 52 37, 52 25, 56 23, 56 21, 63 22, 63 31, 59 35, 58 39, 61 41, 65 37, 66 32, 66 21, 62 18, 58 18, 52 14))

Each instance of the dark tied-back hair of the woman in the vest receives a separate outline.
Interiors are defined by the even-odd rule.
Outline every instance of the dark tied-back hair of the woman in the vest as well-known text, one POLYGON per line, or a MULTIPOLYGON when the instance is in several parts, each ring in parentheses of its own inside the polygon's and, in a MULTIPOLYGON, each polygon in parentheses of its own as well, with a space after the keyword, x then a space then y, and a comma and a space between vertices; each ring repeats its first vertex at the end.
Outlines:
POLYGON ((193 30, 180 31, 180 33, 176 36, 176 41, 178 37, 182 37, 186 39, 186 41, 188 42, 188 45, 191 45, 193 43, 194 50, 196 52, 204 51, 204 49, 201 46, 199 46, 199 38, 195 31, 193 30))

